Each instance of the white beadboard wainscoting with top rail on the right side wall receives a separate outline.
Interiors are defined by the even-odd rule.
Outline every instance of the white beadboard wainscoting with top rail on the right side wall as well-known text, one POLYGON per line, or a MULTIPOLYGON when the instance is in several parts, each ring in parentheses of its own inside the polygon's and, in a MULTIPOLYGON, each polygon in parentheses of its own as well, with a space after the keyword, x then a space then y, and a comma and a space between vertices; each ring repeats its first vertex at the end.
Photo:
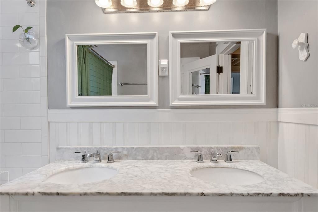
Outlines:
POLYGON ((318 188, 318 108, 280 108, 278 121, 278 168, 318 188))

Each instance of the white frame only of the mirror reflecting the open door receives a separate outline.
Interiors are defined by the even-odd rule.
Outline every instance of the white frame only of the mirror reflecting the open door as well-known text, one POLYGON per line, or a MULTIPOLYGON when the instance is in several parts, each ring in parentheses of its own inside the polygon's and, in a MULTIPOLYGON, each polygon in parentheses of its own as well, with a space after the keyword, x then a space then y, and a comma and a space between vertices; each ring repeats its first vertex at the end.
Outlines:
POLYGON ((169 60, 170 106, 265 104, 266 29, 170 32, 169 60), (254 41, 252 94, 181 95, 180 44, 221 41, 254 41))

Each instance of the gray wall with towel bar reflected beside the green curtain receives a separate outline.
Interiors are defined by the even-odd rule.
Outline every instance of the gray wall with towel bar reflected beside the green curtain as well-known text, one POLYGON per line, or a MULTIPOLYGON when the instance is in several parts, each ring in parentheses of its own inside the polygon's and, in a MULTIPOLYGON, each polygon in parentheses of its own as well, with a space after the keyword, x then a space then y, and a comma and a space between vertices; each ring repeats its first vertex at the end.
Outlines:
MULTIPOLYGON (((98 45, 106 60, 117 60, 117 82, 147 83, 147 44, 98 45)), ((118 95, 147 95, 147 85, 117 83, 118 95)))

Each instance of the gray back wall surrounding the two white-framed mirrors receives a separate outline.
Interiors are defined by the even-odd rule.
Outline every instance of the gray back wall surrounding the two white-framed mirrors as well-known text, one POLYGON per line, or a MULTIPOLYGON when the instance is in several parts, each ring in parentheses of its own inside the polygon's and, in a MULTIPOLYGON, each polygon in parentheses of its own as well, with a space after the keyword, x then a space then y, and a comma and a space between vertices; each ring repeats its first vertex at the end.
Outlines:
POLYGON ((48 0, 46 20, 49 109, 70 109, 66 107, 66 33, 159 32, 159 59, 168 59, 169 31, 252 28, 267 28, 266 105, 169 107, 169 77, 160 76, 157 108, 276 107, 276 0, 218 0, 209 11, 125 14, 104 14, 94 1, 48 0))

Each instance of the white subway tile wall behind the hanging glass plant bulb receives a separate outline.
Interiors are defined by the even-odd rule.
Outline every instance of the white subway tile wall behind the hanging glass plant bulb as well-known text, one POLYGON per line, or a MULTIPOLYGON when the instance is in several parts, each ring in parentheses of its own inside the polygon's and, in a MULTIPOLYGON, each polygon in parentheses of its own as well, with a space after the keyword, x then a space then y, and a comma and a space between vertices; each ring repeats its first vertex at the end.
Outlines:
POLYGON ((48 163, 46 0, 0 1, 0 49, 0 170, 13 180, 48 163), (17 24, 33 27, 36 49, 19 45, 17 24))

